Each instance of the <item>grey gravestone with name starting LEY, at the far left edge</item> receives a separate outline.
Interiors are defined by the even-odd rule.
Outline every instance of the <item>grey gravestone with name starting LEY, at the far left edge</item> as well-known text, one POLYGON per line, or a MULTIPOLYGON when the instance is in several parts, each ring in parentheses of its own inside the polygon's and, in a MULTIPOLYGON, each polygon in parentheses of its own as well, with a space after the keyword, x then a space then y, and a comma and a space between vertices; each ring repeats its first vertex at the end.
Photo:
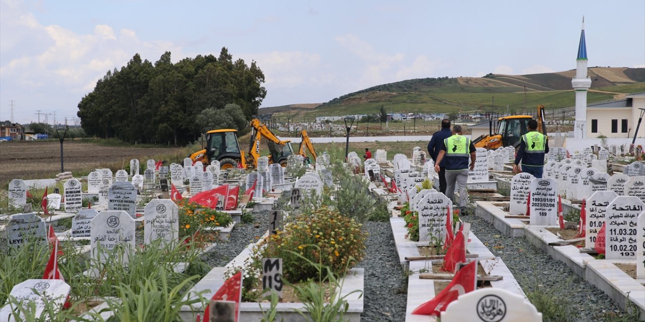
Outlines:
POLYGON ((42 240, 47 236, 45 221, 35 213, 13 214, 6 224, 6 239, 9 247, 16 249, 25 245, 28 240, 42 240))

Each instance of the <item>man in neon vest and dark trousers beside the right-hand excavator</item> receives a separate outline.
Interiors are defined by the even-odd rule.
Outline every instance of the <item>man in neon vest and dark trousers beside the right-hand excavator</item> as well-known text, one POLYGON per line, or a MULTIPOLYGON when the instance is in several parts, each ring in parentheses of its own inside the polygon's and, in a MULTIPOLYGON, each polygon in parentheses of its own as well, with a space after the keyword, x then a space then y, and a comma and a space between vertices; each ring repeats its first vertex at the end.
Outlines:
POLYGON ((515 156, 515 164, 513 164, 513 171, 526 172, 535 176, 535 178, 542 178, 542 170, 544 169, 544 154, 549 153, 549 138, 546 135, 537 131, 537 120, 528 121, 528 133, 522 135, 520 139, 520 146, 515 156), (518 165, 522 162, 522 169, 520 171, 518 165))

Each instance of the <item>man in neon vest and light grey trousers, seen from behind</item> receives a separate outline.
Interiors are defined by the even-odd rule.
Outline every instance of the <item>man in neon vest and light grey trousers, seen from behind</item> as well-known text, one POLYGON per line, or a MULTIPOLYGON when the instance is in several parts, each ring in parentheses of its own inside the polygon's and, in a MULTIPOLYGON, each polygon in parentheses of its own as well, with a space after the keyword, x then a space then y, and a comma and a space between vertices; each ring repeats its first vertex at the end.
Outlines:
POLYGON ((452 128, 452 136, 446 138, 441 145, 441 150, 435 163, 435 171, 441 171, 440 164, 446 159, 446 196, 452 200, 455 194, 455 185, 459 190, 459 206, 461 213, 466 213, 466 204, 468 204, 468 171, 475 169, 475 145, 470 138, 461 135, 460 125, 452 128), (468 155, 470 155, 470 167, 468 166, 468 155))

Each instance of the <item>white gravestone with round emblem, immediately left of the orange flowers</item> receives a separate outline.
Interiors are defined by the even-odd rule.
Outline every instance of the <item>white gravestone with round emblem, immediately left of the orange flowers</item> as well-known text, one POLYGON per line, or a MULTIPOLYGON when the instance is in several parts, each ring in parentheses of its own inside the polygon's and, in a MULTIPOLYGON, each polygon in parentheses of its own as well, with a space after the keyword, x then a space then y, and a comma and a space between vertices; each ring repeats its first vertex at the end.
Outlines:
POLYGON ((144 209, 143 242, 161 239, 164 244, 179 240, 179 207, 169 199, 153 199, 144 209))

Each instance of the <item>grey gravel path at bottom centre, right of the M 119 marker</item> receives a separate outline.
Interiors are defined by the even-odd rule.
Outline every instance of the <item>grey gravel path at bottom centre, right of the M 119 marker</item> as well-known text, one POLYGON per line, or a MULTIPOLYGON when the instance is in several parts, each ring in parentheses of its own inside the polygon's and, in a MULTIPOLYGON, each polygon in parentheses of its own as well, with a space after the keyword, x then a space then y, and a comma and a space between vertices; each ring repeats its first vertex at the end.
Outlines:
POLYGON ((366 255, 357 265, 365 269, 364 310, 361 321, 403 321, 407 279, 401 269, 389 222, 366 222, 370 235, 366 255))

